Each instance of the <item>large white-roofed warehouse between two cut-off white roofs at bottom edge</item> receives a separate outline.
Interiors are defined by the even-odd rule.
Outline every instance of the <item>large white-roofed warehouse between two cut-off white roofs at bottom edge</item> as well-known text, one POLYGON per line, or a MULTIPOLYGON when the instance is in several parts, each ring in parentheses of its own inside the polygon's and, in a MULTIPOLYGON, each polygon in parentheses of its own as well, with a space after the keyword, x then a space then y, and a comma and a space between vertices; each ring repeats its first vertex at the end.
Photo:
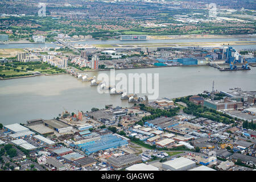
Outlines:
POLYGON ((162 168, 171 171, 187 171, 196 166, 196 162, 187 158, 176 158, 162 163, 162 168))

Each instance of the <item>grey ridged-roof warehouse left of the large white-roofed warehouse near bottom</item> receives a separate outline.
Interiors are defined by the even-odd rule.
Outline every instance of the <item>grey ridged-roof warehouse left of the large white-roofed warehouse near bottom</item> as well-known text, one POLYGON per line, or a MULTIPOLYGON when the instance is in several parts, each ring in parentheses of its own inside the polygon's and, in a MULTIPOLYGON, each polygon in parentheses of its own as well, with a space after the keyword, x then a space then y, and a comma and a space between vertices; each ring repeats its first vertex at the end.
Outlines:
POLYGON ((121 168, 134 163, 141 163, 141 157, 135 154, 121 155, 118 157, 111 157, 107 162, 115 168, 121 168))

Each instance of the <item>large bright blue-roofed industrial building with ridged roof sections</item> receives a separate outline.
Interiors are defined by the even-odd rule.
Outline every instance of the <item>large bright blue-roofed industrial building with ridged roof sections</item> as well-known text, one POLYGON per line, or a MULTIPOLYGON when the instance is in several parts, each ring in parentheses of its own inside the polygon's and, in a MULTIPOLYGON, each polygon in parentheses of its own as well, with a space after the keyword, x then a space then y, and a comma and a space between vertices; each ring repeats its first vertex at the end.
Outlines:
POLYGON ((117 137, 116 135, 107 134, 100 137, 89 138, 75 142, 75 147, 84 151, 86 155, 90 155, 100 150, 116 148, 128 144, 127 140, 117 137))

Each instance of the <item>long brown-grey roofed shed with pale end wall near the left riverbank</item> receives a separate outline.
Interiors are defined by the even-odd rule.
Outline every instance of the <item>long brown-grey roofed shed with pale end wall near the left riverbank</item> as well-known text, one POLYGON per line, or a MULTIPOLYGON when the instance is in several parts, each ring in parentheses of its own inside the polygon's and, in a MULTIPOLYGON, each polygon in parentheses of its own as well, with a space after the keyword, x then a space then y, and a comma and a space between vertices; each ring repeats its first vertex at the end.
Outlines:
POLYGON ((67 124, 57 120, 57 119, 49 119, 44 120, 44 125, 48 126, 49 128, 59 132, 59 133, 67 133, 72 131, 73 127, 68 126, 67 124))

